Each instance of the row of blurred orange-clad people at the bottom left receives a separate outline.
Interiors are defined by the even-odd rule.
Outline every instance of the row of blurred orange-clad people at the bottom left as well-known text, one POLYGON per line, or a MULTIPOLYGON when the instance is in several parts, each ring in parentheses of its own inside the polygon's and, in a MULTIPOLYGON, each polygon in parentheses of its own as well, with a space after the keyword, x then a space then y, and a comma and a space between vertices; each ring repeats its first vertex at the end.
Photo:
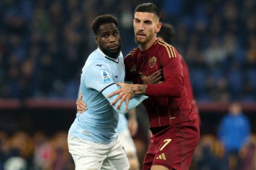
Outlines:
POLYGON ((48 138, 43 132, 33 136, 0 131, 0 170, 71 170, 75 164, 67 150, 67 132, 48 138))

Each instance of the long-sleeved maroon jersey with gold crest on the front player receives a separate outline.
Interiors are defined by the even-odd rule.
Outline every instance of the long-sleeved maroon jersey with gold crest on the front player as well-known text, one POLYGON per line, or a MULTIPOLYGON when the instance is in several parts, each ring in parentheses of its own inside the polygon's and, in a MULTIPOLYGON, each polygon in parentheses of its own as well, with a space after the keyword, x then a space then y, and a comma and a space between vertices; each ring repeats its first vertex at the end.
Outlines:
POLYGON ((161 40, 156 40, 148 50, 132 50, 125 57, 125 79, 142 84, 142 77, 162 69, 164 80, 148 85, 143 101, 150 118, 150 127, 178 124, 197 118, 191 108, 183 81, 183 66, 177 50, 161 40))

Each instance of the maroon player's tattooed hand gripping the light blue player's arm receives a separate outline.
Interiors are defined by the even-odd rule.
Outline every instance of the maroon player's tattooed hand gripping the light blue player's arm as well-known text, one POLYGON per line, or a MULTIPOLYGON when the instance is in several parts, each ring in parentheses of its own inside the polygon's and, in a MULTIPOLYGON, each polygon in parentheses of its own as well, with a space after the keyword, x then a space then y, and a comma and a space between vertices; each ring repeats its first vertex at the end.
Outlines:
POLYGON ((121 86, 121 89, 110 93, 107 97, 112 97, 113 95, 119 95, 115 98, 110 105, 115 105, 119 99, 121 101, 117 104, 116 108, 119 109, 123 101, 125 101, 125 112, 128 111, 129 100, 135 96, 135 91, 133 91, 133 85, 128 83, 117 83, 117 85, 121 86))

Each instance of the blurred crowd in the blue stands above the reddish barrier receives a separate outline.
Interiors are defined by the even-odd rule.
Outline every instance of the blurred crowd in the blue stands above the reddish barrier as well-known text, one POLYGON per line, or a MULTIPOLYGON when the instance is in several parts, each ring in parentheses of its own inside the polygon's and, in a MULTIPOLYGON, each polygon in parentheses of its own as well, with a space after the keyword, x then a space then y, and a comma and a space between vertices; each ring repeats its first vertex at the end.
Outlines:
MULTIPOLYGON (((136 47, 133 11, 146 1, 1 0, 0 98, 76 99, 96 48, 96 15, 119 19, 122 51, 136 47)), ((197 101, 256 101, 256 1, 158 0, 187 60, 197 101)))

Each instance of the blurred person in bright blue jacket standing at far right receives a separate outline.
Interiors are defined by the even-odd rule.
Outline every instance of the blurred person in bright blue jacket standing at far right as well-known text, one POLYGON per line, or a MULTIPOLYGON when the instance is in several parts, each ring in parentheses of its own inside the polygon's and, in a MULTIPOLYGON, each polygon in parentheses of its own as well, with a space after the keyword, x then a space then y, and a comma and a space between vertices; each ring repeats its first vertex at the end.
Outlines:
POLYGON ((241 104, 232 103, 218 129, 218 138, 224 148, 222 169, 241 169, 239 152, 249 142, 250 135, 251 125, 247 116, 243 114, 241 104))

